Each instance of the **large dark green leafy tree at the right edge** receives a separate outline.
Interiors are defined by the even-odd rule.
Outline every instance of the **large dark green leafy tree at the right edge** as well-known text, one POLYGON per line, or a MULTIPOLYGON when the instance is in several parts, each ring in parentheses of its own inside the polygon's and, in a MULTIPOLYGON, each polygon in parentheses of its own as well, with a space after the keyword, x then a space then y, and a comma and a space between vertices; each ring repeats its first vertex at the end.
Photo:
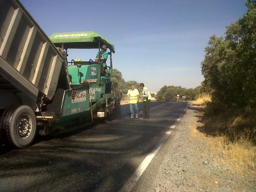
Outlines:
POLYGON ((201 62, 203 89, 223 109, 256 107, 256 1, 246 6, 247 12, 226 28, 224 37, 210 37, 201 62))

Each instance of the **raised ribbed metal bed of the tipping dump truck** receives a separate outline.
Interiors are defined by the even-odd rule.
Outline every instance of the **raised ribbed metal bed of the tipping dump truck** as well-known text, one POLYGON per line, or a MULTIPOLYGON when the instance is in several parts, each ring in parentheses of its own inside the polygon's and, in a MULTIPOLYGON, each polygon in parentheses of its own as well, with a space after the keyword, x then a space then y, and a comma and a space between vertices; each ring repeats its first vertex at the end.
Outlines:
POLYGON ((14 0, 0 0, 1 78, 36 100, 55 95, 64 58, 27 10, 14 0))

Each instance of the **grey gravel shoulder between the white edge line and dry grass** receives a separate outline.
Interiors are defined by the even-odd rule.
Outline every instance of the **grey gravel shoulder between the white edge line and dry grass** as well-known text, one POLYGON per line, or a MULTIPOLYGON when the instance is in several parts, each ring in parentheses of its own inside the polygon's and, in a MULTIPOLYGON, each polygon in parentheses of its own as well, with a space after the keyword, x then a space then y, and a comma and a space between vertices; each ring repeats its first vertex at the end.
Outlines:
POLYGON ((188 108, 132 191, 256 191, 254 171, 222 163, 207 136, 192 135, 197 120, 188 108))

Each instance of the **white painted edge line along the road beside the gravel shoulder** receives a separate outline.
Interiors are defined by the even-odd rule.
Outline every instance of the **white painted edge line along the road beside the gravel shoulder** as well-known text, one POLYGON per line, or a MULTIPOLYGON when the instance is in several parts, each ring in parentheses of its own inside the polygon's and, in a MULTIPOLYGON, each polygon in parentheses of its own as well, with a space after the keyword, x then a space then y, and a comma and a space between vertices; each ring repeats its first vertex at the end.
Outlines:
MULTIPOLYGON (((178 122, 180 119, 181 118, 176 119, 176 121, 178 122)), ((172 124, 172 126, 170 126, 170 128, 174 129, 176 127, 177 122, 172 124)), ((169 130, 169 131, 166 132, 166 134, 164 134, 162 139, 160 139, 158 141, 158 143, 155 145, 155 147, 152 149, 152 151, 150 153, 148 153, 148 155, 142 161, 141 165, 138 166, 138 168, 131 175, 131 177, 125 183, 125 185, 123 185, 122 189, 119 192, 128 192, 128 191, 131 191, 133 189, 136 182, 139 180, 139 177, 141 177, 144 170, 146 170, 147 166, 150 164, 152 159, 155 157, 156 153, 158 153, 158 150, 162 147, 162 145, 164 144, 164 141, 166 141, 166 139, 171 134, 171 132, 172 132, 172 130, 169 130)))

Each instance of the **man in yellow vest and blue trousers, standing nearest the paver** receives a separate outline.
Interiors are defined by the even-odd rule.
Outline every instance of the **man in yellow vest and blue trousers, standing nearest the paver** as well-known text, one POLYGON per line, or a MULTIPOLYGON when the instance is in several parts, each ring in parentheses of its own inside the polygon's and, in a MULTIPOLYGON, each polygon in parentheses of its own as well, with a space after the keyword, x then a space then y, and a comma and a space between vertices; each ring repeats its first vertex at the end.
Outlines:
POLYGON ((128 90, 127 96, 130 103, 131 119, 134 118, 134 115, 136 118, 139 118, 139 110, 137 105, 139 102, 139 91, 138 89, 135 89, 134 84, 131 84, 131 89, 128 90))

